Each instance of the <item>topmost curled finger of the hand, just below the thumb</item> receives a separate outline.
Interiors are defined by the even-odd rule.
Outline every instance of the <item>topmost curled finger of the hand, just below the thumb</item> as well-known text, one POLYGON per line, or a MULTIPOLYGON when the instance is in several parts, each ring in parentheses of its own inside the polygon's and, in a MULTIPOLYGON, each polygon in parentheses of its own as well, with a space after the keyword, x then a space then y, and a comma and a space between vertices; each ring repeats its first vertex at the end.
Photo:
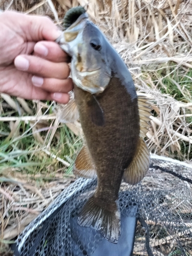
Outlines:
POLYGON ((53 62, 69 62, 69 55, 53 41, 39 41, 34 47, 34 54, 53 62))

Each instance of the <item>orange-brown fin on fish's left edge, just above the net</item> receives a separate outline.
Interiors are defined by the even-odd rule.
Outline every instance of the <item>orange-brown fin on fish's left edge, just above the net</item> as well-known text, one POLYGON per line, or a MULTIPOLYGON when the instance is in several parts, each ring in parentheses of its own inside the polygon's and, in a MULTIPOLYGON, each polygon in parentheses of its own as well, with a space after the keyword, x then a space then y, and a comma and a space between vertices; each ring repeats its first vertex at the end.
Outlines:
POLYGON ((96 176, 95 166, 86 146, 81 148, 81 151, 75 160, 73 173, 76 176, 88 179, 94 178, 96 176))

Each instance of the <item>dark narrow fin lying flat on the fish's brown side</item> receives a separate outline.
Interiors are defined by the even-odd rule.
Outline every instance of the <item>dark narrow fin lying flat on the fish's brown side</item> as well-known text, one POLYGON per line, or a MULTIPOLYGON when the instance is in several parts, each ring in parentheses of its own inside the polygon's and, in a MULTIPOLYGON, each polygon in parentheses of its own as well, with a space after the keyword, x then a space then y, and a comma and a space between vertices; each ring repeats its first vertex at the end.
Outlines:
POLYGON ((94 95, 88 100, 88 111, 92 122, 97 126, 104 125, 104 115, 101 106, 94 95))

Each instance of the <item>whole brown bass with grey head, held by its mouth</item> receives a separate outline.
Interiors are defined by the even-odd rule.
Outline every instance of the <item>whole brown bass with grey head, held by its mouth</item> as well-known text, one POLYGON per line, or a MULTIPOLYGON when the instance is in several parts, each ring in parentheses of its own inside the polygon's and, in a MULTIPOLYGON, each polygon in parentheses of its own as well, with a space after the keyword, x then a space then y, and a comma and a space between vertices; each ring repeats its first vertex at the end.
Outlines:
POLYGON ((74 174, 97 176, 96 191, 83 205, 78 224, 117 243, 121 181, 138 183, 150 166, 144 137, 151 108, 144 96, 138 96, 124 61, 84 8, 70 9, 64 27, 56 42, 71 56, 74 98, 63 109, 61 119, 73 122, 79 118, 85 138, 74 174))

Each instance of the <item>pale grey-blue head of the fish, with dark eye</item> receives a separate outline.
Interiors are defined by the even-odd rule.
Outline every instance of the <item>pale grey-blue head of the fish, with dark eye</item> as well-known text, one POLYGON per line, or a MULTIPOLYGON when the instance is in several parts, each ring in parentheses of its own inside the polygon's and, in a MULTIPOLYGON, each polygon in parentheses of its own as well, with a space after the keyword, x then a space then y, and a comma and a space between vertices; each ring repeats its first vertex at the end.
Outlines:
POLYGON ((81 14, 57 39, 71 57, 72 79, 77 87, 91 94, 102 93, 111 79, 109 43, 102 32, 81 14))

